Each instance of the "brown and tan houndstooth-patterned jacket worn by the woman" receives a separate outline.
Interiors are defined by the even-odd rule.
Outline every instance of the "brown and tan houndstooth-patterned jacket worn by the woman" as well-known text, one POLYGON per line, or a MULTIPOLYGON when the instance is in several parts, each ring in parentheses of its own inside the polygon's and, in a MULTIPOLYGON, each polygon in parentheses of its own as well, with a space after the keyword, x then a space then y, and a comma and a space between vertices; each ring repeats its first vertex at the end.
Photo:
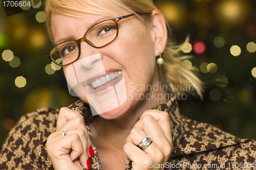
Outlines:
MULTIPOLYGON (((81 100, 69 106, 92 118, 90 106, 81 100)), ((179 112, 177 101, 170 100, 155 110, 169 113, 174 148, 165 164, 149 167, 167 169, 256 169, 256 142, 240 139, 209 124, 191 120, 179 112)), ((56 131, 58 110, 42 108, 23 115, 7 136, 0 154, 0 169, 54 169, 46 151, 48 136, 56 131)), ((93 170, 101 169, 100 160, 88 126, 95 156, 93 170)), ((83 167, 84 168, 84 167, 83 167)), ((85 169, 85 168, 84 168, 85 169)), ((125 170, 132 169, 132 162, 125 170)))

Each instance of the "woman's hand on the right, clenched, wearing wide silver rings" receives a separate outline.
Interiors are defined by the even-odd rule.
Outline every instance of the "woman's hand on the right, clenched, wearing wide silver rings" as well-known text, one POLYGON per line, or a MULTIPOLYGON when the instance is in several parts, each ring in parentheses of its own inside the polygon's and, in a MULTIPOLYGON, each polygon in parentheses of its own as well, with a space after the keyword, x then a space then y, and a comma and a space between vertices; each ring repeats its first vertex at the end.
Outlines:
POLYGON ((164 167, 157 168, 157 164, 165 164, 172 150, 173 139, 169 114, 158 110, 146 110, 126 139, 123 159, 126 165, 132 161, 133 170, 164 169, 164 167), (146 136, 153 142, 141 150, 137 146, 146 136))

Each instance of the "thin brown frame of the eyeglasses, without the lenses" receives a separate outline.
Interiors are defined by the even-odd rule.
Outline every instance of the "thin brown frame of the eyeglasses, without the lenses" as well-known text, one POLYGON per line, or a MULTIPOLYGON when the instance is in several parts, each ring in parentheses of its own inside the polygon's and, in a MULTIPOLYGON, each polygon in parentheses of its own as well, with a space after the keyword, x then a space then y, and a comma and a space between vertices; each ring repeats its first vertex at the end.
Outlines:
POLYGON ((86 33, 84 33, 84 35, 83 35, 82 38, 79 38, 78 40, 67 40, 67 41, 63 41, 63 42, 58 43, 58 44, 55 45, 54 47, 52 47, 52 49, 47 53, 46 58, 49 58, 52 62, 54 62, 54 63, 57 64, 58 66, 66 66, 66 65, 72 64, 72 63, 76 62, 76 61, 80 58, 80 54, 81 54, 81 46, 80 46, 80 44, 81 44, 81 42, 84 41, 84 42, 88 43, 90 46, 95 47, 95 48, 102 48, 102 47, 105 47, 106 45, 109 45, 109 44, 112 43, 112 42, 117 38, 117 36, 118 36, 118 32, 119 32, 119 30, 118 30, 118 22, 119 22, 121 19, 130 17, 130 16, 134 16, 134 15, 136 15, 136 14, 135 14, 135 13, 132 13, 132 14, 120 16, 120 17, 113 18, 113 19, 105 19, 105 20, 99 21, 99 22, 95 23, 92 27, 90 27, 90 28, 86 31, 86 33), (116 37, 115 37, 112 41, 110 41, 109 43, 107 43, 107 44, 105 44, 105 45, 103 45, 103 46, 99 46, 99 47, 98 47, 98 46, 95 46, 92 42, 90 42, 90 40, 88 40, 88 39, 86 38, 86 35, 87 35, 87 33, 88 33, 94 26, 96 26, 96 25, 98 25, 99 23, 102 23, 102 22, 104 22, 104 21, 108 21, 108 20, 112 20, 112 21, 114 21, 114 22, 116 23, 116 30, 117 30, 117 32, 116 32, 116 37), (56 46, 58 46, 58 45, 60 45, 60 44, 62 44, 62 43, 69 42, 69 41, 73 41, 73 42, 76 42, 76 43, 78 44, 78 56, 77 56, 77 59, 74 60, 74 61, 72 61, 72 62, 69 63, 69 64, 59 64, 59 63, 57 63, 57 62, 51 57, 51 52, 52 52, 52 50, 53 50, 56 46))

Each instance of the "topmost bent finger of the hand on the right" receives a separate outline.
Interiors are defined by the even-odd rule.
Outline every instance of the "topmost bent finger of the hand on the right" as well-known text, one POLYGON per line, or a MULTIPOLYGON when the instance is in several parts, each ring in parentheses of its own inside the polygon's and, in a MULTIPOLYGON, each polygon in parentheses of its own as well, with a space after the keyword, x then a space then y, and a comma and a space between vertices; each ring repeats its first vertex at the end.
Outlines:
POLYGON ((170 141, 170 143, 172 143, 172 127, 170 126, 169 114, 167 112, 159 110, 146 110, 142 113, 140 119, 142 119, 148 114, 152 115, 155 118, 156 122, 163 130, 163 133, 166 136, 166 138, 170 141))

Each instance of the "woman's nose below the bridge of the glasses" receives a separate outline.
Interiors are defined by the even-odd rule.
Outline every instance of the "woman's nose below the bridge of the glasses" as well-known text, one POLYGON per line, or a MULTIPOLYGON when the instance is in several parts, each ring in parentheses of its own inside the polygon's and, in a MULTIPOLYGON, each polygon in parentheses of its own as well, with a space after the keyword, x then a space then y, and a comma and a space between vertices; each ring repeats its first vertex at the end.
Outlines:
MULTIPOLYGON (((87 47, 87 49, 88 49, 88 47, 87 47)), ((82 51, 84 52, 84 50, 81 49, 81 54, 80 54, 81 56, 80 56, 80 60, 79 60, 81 68, 92 69, 93 67, 95 67, 96 65, 98 65, 101 62, 102 59, 101 59, 100 53, 94 54, 91 56, 86 56, 87 53, 83 53, 82 51)))

